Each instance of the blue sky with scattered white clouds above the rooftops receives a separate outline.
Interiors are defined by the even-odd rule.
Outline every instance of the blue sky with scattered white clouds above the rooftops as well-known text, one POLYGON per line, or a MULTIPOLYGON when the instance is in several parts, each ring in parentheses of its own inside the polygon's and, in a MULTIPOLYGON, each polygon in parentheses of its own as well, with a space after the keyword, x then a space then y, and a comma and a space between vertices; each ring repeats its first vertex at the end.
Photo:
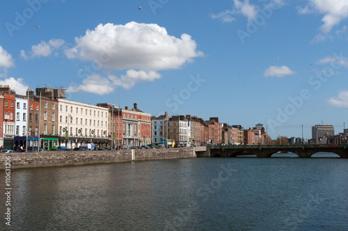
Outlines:
POLYGON ((348 127, 347 22, 346 0, 0 0, 0 84, 310 139, 348 127))

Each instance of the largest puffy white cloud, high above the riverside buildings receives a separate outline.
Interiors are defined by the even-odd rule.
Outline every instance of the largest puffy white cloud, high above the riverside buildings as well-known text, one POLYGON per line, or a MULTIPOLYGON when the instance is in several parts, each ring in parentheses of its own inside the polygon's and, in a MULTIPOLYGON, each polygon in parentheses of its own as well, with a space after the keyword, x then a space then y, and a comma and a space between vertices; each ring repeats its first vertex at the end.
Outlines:
POLYGON ((75 41, 67 57, 96 62, 101 69, 177 69, 203 55, 190 35, 177 38, 157 24, 99 24, 75 41))

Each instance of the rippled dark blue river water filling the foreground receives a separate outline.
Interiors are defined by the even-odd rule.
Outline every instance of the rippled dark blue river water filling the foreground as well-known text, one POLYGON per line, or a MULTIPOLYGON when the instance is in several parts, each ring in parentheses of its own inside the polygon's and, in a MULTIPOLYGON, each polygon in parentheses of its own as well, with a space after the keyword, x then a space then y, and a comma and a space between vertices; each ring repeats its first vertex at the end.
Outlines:
MULTIPOLYGON (((4 171, 0 179, 4 190, 4 171)), ((2 215, 1 230, 348 230, 348 160, 340 158, 18 169, 11 186, 11 226, 2 215)), ((4 214, 3 193, 0 201, 4 214)))

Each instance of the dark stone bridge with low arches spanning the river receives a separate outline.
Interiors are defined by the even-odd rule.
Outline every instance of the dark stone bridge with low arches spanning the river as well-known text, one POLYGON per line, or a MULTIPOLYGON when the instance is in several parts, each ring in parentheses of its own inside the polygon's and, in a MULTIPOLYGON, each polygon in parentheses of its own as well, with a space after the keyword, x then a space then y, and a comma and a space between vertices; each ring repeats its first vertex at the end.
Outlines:
POLYGON ((236 157, 237 155, 256 155, 271 157, 275 153, 294 153, 299 157, 311 157, 315 153, 335 153, 348 158, 346 145, 238 145, 238 146, 207 146, 205 151, 196 150, 197 157, 236 157))

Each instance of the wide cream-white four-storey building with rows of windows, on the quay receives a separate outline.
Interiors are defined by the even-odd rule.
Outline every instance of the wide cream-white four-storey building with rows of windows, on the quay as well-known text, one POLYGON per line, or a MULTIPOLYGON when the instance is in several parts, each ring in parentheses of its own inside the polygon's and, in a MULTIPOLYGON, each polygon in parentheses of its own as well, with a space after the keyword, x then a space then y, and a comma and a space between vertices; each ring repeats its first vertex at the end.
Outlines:
POLYGON ((58 99, 59 145, 68 148, 82 144, 106 147, 108 143, 108 109, 58 99))

